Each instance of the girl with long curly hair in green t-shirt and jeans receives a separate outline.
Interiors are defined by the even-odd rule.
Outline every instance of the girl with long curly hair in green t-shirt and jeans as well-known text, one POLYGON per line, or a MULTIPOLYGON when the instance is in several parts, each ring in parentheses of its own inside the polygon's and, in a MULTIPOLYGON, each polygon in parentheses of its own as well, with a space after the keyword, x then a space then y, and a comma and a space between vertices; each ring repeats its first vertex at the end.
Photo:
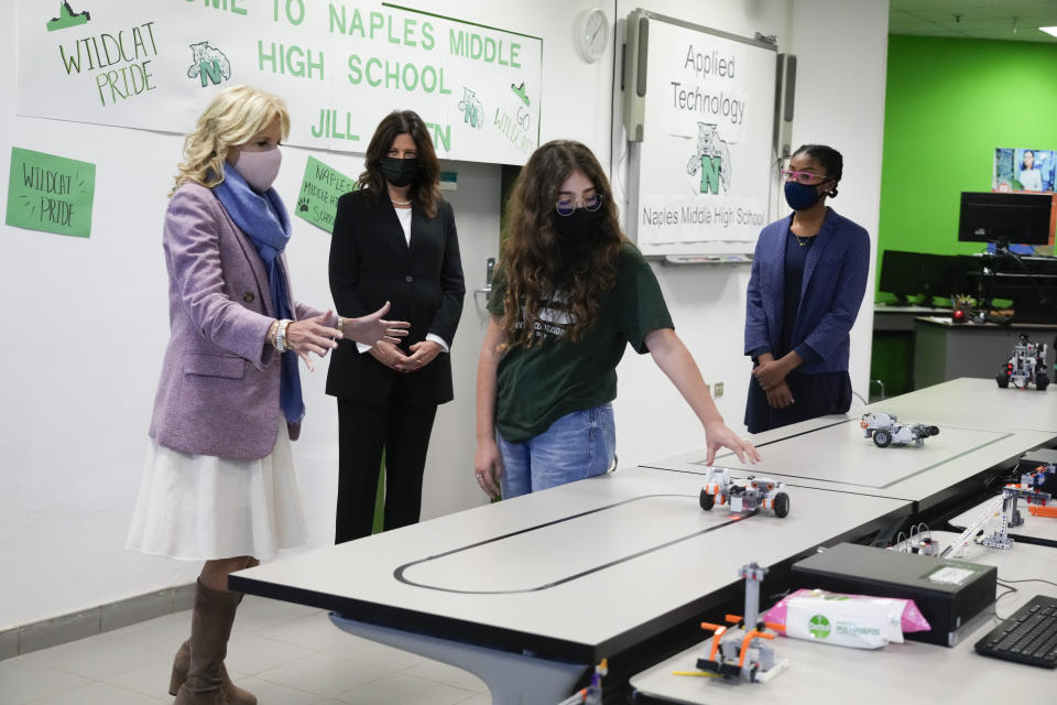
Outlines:
POLYGON ((653 356, 701 421, 707 463, 720 447, 759 460, 723 423, 676 336, 590 150, 567 140, 536 150, 514 184, 506 228, 477 371, 473 471, 484 492, 516 497, 615 464, 611 402, 629 343, 653 356))

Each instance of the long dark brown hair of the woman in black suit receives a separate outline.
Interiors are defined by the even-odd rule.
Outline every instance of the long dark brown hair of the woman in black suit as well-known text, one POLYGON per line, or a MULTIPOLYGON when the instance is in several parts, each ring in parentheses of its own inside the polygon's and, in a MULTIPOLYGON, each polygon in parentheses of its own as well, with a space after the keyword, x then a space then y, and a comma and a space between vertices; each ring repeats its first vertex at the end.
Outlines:
POLYGON ((410 134, 418 151, 418 174, 411 184, 408 196, 418 208, 431 218, 437 215, 440 204, 440 163, 433 147, 429 129, 414 110, 393 110, 385 116, 367 145, 363 160, 364 171, 360 174, 360 187, 366 189, 372 200, 386 193, 385 175, 382 173, 382 159, 389 155, 389 148, 397 135, 410 134))

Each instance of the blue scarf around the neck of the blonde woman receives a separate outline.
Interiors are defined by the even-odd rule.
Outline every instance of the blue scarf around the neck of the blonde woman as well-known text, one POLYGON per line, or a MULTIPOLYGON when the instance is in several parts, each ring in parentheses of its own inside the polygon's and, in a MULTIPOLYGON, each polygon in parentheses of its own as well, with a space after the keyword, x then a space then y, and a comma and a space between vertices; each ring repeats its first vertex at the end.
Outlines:
MULTIPOLYGON (((213 187, 224 209, 235 224, 253 241, 257 253, 261 256, 268 270, 272 302, 280 318, 294 318, 286 278, 279 256, 290 242, 290 216, 286 207, 274 188, 264 195, 257 193, 246 183, 237 169, 224 167, 224 181, 213 187)), ((297 370, 297 354, 286 350, 282 354, 282 373, 279 384, 279 406, 291 423, 299 423, 305 417, 305 402, 301 394, 301 375, 297 370)))

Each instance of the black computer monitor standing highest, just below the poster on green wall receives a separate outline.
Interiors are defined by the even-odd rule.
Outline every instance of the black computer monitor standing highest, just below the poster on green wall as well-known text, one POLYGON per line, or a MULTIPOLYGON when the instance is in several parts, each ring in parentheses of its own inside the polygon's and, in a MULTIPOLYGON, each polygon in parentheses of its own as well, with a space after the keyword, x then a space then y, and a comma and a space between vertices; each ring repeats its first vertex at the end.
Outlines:
POLYGON ((962 192, 958 239, 962 242, 1048 245, 1049 194, 962 192))

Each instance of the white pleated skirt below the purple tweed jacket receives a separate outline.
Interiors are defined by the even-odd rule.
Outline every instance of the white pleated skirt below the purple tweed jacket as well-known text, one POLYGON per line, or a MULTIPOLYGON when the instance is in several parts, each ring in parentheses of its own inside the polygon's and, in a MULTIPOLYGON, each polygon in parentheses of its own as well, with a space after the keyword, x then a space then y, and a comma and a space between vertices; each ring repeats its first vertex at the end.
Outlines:
POLYGON ((270 558, 307 533, 290 434, 260 460, 189 455, 151 438, 126 547, 181 561, 270 558))

